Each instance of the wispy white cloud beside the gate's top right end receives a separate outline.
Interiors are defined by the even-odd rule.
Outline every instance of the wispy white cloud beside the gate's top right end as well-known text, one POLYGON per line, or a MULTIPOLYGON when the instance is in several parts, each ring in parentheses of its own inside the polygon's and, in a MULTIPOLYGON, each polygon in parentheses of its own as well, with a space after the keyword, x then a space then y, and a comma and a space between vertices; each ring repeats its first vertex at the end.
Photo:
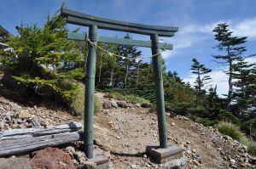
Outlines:
MULTIPOLYGON (((190 48, 195 44, 203 43, 209 39, 213 39, 212 30, 220 23, 227 22, 230 24, 230 31, 234 36, 248 37, 250 40, 256 40, 256 17, 235 22, 234 20, 218 20, 207 24, 189 24, 180 27, 175 37, 165 38, 166 42, 171 42, 174 46, 175 54, 182 51, 183 48, 190 48)), ((169 58, 174 53, 167 53, 165 58, 169 58)))

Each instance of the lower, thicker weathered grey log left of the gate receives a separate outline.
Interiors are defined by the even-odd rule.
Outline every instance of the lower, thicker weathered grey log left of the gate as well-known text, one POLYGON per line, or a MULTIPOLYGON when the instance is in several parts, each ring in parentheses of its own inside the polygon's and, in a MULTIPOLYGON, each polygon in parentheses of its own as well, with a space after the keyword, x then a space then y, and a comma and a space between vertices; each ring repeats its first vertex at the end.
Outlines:
POLYGON ((0 156, 15 155, 34 149, 67 144, 82 139, 82 132, 64 132, 34 138, 0 141, 0 156))

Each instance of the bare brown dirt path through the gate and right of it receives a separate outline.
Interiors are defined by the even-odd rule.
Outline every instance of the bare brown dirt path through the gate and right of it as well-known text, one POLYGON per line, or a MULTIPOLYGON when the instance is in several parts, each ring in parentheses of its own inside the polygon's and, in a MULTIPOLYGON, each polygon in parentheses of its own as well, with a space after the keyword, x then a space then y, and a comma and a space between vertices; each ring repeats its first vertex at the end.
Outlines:
MULTIPOLYGON (((145 154, 147 145, 158 142, 157 116, 148 109, 102 110, 95 117, 96 144, 111 152, 113 168, 159 168, 145 154)), ((240 168, 240 155, 235 144, 213 128, 203 127, 185 118, 166 116, 168 142, 185 149, 188 162, 183 168, 240 168), (223 153, 223 150, 227 153, 223 153), (226 156, 226 158, 224 157, 226 156), (230 163, 231 159, 237 162, 230 163)), ((244 160, 245 161, 245 160, 244 160)), ((241 168, 253 168, 243 166, 241 168)))

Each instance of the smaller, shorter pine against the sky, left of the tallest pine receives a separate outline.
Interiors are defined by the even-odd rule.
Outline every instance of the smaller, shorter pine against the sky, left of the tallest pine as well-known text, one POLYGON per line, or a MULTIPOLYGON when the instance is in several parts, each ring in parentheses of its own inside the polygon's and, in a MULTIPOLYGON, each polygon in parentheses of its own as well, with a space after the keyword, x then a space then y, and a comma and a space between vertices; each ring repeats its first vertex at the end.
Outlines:
POLYGON ((208 73, 210 73, 212 70, 207 69, 205 65, 201 65, 197 59, 192 59, 193 65, 191 66, 192 73, 195 74, 196 80, 195 80, 195 91, 199 97, 199 103, 202 105, 203 101, 203 94, 205 93, 205 89, 203 88, 207 83, 209 83, 209 80, 212 78, 210 76, 207 76, 208 73))

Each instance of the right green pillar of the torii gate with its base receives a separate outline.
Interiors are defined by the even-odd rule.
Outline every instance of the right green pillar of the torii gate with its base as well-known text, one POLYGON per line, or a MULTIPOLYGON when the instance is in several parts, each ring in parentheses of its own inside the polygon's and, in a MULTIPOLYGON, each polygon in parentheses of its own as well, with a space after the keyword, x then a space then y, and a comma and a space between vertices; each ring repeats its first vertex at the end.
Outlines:
POLYGON ((156 109, 158 119, 158 131, 159 131, 159 145, 147 146, 146 151, 148 155, 154 157, 154 160, 158 163, 166 163, 172 159, 182 157, 183 149, 177 145, 169 146, 167 143, 167 131, 166 131, 166 110, 165 110, 165 98, 163 87, 163 76, 160 59, 160 47, 159 37, 154 34, 150 36, 151 49, 153 56, 154 66, 154 82, 156 92, 156 109))

